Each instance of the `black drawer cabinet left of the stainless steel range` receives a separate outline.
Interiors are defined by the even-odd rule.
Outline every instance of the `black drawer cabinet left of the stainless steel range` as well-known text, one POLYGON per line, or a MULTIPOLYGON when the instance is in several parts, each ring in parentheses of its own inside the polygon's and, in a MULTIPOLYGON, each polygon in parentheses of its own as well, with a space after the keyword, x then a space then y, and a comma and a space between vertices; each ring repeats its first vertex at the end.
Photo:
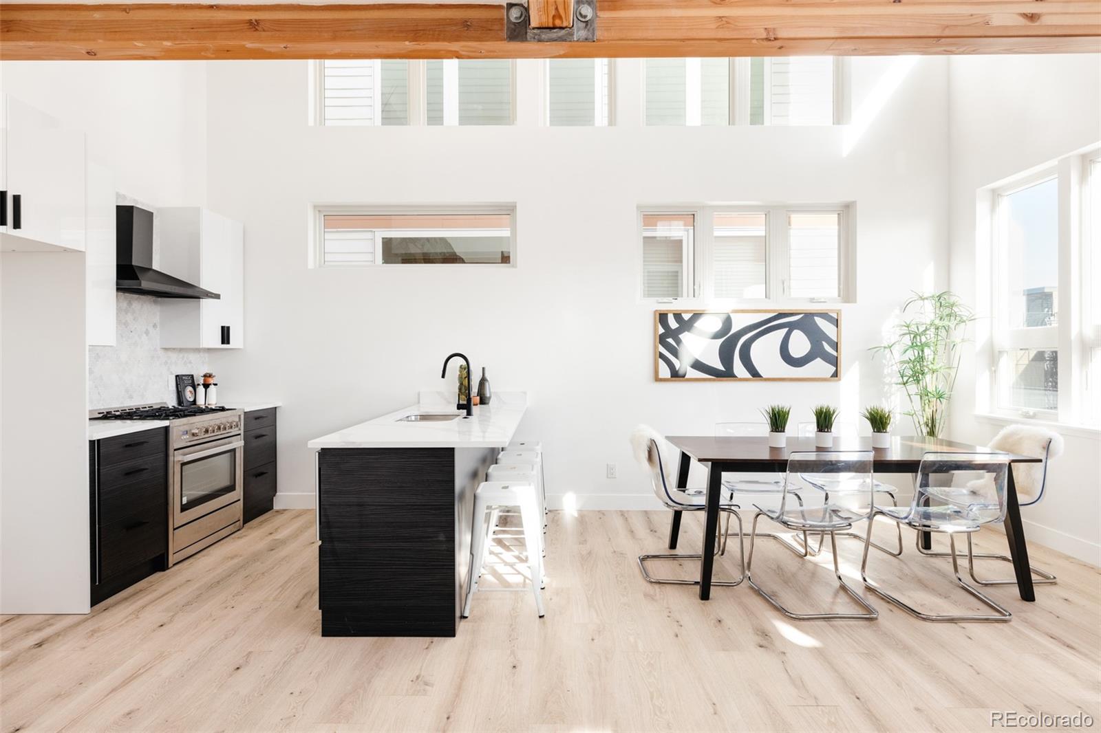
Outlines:
POLYGON ((88 467, 95 605, 167 567, 167 431, 89 441, 88 467))

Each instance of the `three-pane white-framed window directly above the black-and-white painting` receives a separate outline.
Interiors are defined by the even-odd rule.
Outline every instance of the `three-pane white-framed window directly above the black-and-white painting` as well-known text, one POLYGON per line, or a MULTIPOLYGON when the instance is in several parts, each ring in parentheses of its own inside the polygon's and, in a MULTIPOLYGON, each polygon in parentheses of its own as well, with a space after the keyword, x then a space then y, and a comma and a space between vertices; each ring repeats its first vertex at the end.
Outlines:
POLYGON ((642 297, 851 299, 849 205, 640 209, 642 297))

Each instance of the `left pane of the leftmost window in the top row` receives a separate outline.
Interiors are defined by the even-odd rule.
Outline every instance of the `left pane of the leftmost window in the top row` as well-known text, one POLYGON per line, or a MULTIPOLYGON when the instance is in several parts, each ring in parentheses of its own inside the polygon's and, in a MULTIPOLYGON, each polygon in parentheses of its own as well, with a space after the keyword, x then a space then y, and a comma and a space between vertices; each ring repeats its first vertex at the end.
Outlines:
POLYGON ((323 61, 320 84, 324 124, 408 124, 407 61, 323 61))

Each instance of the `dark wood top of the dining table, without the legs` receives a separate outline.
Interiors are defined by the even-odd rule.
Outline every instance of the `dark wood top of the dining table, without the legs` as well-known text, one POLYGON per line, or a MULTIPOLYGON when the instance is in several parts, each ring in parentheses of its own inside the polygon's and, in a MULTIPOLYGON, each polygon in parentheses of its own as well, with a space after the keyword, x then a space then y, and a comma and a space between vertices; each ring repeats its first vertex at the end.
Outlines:
MULTIPOLYGON (((816 448, 815 439, 787 437, 785 448, 770 448, 768 439, 744 436, 675 436, 667 438, 669 442, 688 453, 700 463, 762 463, 774 464, 773 468, 761 470, 783 470, 787 458, 793 452, 820 450, 872 450, 874 466, 879 470, 895 468, 900 473, 912 473, 922 462, 922 456, 929 451, 955 453, 1001 453, 983 446, 971 446, 966 442, 945 440, 944 438, 895 437, 891 439, 890 448, 872 449, 872 439, 837 437, 831 448, 816 448)), ((1028 456, 1012 456, 1015 463, 1038 463, 1040 459, 1028 456)))

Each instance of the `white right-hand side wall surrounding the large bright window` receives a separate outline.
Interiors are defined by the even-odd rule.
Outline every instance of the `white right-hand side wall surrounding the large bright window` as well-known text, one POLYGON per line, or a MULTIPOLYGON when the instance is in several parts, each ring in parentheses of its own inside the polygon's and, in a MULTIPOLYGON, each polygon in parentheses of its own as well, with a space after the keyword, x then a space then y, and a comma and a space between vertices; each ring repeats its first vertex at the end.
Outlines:
MULTIPOLYGON (((977 189, 1101 141, 1101 56, 958 56, 949 62, 951 288, 979 307, 977 189)), ((977 348, 986 348, 985 342, 977 348)), ((1005 424, 975 417, 975 360, 963 360, 951 435, 986 442, 1005 424)), ((1058 429, 1058 428, 1057 428, 1058 429)), ((1045 501, 1025 508, 1025 534, 1101 564, 1101 434, 1064 433, 1045 501)))

